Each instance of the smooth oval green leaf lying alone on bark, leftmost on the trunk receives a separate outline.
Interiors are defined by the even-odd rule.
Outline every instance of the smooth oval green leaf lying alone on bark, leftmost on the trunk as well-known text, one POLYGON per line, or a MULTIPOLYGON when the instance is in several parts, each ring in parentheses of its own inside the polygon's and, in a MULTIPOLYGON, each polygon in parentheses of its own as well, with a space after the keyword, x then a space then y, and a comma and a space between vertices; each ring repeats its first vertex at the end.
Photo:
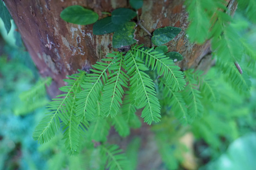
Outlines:
POLYGON ((61 12, 60 17, 66 22, 78 25, 89 25, 95 23, 99 18, 96 12, 79 5, 65 8, 61 12))

